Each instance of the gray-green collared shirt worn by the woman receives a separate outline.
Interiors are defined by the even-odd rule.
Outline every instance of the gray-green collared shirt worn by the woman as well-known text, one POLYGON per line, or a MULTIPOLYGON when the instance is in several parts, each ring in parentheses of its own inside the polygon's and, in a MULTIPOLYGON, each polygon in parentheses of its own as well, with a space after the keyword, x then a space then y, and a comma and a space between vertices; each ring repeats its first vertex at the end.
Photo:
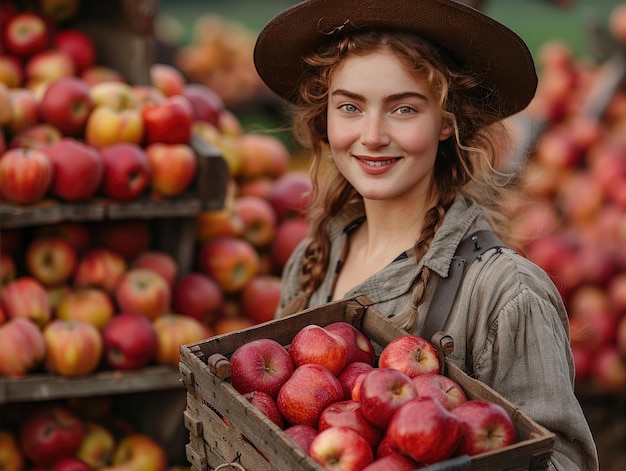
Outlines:
MULTIPOLYGON (((309 299, 308 307, 329 301, 338 266, 347 250, 347 231, 362 218, 347 208, 329 228, 332 241, 329 270, 309 299)), ((414 251, 355 286, 345 297, 365 295, 380 312, 399 313, 410 302, 423 265, 445 278, 452 256, 470 233, 488 229, 480 207, 457 197, 435 234, 427 253, 414 251)), ((301 296, 300 273, 304 243, 283 270, 283 292, 277 315, 301 296)), ((418 309, 419 335, 437 284, 431 277, 425 302, 418 309)), ((289 310, 289 306, 286 308, 289 310)), ((444 330, 454 339, 449 359, 521 408, 556 434, 551 468, 595 471, 598 459, 589 425, 574 395, 574 364, 567 312, 552 280, 513 250, 491 250, 466 270, 444 330)))

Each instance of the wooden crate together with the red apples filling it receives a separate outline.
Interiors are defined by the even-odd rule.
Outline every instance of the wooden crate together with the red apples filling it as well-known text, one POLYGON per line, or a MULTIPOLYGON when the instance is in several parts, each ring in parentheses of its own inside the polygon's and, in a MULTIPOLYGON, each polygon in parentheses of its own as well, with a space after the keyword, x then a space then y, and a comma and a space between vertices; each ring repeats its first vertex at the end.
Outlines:
POLYGON ((433 342, 357 297, 181 346, 192 469, 542 469, 554 434, 433 342))

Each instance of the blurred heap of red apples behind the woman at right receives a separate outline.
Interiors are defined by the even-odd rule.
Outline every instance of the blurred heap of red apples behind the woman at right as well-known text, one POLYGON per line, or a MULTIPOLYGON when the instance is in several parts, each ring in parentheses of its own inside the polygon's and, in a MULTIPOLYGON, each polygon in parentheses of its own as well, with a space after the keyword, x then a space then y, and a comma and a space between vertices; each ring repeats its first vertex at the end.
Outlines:
POLYGON ((615 393, 626 391, 626 5, 606 33, 601 64, 557 41, 539 52, 528 115, 543 132, 522 169, 526 199, 511 206, 522 253, 568 309, 577 386, 615 393))

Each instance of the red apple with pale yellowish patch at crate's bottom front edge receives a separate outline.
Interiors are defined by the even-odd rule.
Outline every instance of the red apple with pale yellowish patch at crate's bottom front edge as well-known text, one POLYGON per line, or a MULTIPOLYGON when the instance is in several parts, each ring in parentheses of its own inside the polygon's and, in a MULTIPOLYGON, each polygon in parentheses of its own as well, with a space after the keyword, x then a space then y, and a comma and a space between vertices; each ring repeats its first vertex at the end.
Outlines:
POLYGON ((324 469, 362 470, 374 461, 367 440, 350 427, 330 427, 320 431, 310 446, 311 458, 324 469))

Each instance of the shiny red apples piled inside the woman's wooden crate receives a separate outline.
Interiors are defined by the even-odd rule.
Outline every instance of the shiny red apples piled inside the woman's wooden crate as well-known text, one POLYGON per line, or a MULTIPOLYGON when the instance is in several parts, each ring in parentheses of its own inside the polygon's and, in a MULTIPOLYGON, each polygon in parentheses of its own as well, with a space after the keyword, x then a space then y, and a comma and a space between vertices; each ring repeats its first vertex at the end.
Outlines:
POLYGON ((288 347, 242 345, 230 367, 233 388, 324 469, 413 470, 516 441, 505 409, 468 399, 419 336, 396 338, 376 358, 352 324, 312 324, 288 347))

